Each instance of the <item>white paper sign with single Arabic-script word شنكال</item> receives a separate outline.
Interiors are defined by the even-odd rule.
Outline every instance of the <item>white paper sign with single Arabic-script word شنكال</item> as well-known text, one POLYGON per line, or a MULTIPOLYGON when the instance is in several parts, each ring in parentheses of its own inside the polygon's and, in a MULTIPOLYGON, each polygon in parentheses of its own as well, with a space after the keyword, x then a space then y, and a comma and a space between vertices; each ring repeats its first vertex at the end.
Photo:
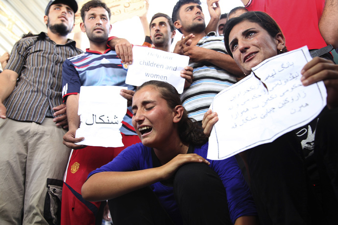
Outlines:
POLYGON ((80 128, 75 137, 85 139, 76 144, 121 147, 120 128, 127 112, 127 100, 120 95, 119 86, 82 86, 78 115, 80 128))

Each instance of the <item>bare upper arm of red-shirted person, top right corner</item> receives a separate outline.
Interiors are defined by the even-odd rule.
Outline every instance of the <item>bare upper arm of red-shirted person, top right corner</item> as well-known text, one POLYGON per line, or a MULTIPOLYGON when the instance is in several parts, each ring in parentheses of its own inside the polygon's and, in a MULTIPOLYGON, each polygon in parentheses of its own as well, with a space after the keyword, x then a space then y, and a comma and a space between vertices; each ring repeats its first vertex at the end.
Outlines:
POLYGON ((338 48, 338 0, 326 0, 319 31, 327 45, 338 48))

